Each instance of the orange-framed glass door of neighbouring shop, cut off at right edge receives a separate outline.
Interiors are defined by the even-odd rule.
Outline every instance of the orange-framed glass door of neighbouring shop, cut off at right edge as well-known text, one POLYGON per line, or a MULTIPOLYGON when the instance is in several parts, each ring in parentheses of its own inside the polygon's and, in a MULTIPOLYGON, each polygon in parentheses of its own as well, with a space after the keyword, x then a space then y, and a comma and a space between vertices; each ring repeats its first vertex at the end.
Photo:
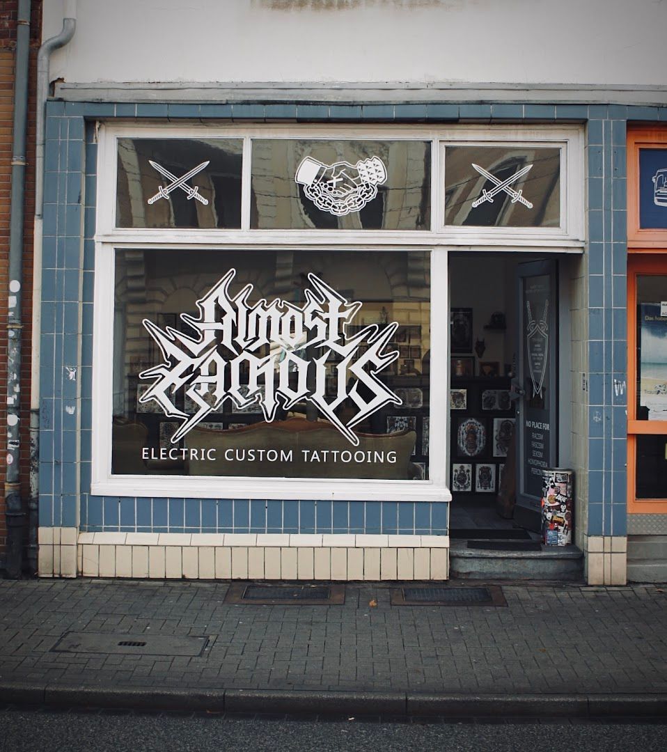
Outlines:
POLYGON ((667 512, 667 254, 628 259, 628 507, 667 512))

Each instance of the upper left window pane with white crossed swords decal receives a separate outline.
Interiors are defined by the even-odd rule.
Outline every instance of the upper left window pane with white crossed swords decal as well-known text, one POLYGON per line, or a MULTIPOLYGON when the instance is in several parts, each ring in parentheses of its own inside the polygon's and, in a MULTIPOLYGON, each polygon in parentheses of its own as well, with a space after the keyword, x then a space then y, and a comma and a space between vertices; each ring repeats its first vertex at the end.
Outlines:
POLYGON ((241 138, 119 138, 117 227, 241 227, 241 138))

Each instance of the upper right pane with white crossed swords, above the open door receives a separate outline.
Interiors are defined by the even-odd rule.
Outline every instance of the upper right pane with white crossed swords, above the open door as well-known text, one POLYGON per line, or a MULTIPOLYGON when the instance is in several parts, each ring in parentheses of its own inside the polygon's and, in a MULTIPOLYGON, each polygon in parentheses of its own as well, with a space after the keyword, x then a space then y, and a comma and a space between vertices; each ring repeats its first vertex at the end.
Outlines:
POLYGON ((555 147, 445 147, 445 225, 559 228, 560 163, 555 147))

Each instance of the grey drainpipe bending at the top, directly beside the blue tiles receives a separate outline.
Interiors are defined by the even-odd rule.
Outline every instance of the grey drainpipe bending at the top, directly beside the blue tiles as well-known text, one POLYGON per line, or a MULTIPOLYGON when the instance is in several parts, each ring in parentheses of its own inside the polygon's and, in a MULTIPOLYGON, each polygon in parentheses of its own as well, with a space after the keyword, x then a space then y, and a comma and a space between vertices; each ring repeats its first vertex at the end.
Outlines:
POLYGON ((41 247, 44 210, 44 121, 49 96, 49 61, 53 50, 67 44, 77 26, 76 0, 65 0, 62 31, 39 48, 37 56, 37 113, 35 143, 35 245, 33 250, 32 285, 32 362, 30 374, 30 497, 28 501, 28 563, 32 574, 37 572, 39 523, 39 365, 41 335, 41 247))

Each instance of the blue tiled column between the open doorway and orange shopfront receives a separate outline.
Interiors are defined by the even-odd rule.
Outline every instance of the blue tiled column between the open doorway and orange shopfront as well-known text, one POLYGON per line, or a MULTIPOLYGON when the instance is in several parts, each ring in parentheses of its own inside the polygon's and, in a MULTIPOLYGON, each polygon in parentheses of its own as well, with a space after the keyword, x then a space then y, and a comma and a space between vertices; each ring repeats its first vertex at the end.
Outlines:
POLYGON ((626 117, 589 108, 588 535, 626 535, 626 117))

